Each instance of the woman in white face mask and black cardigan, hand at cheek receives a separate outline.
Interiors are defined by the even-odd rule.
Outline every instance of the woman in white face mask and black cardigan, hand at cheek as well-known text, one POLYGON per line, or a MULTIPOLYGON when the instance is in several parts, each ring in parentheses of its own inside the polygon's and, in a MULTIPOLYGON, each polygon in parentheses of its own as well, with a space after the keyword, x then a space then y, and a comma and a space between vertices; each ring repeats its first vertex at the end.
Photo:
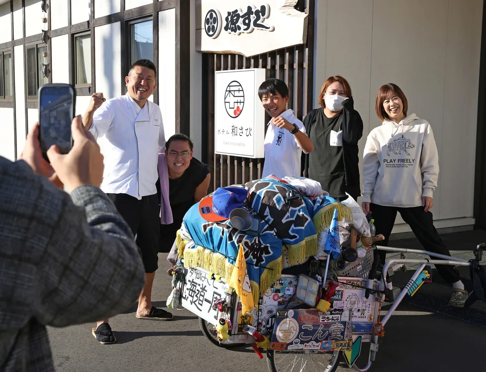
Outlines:
POLYGON ((304 127, 314 144, 305 154, 304 176, 321 183, 322 189, 337 200, 355 200, 361 194, 358 141, 363 120, 354 109, 351 87, 342 76, 331 76, 322 85, 320 108, 304 119, 304 127))

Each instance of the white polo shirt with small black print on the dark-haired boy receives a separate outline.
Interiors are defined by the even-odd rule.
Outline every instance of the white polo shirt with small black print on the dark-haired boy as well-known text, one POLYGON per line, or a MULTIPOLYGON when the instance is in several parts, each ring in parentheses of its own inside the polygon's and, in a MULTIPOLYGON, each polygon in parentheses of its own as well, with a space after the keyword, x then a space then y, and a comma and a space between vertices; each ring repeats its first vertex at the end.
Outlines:
MULTIPOLYGON (((299 130, 306 134, 302 121, 295 118, 294 111, 287 110, 280 115, 299 130)), ((300 176, 300 157, 302 150, 297 144, 295 135, 287 129, 280 129, 268 123, 267 134, 264 141, 265 163, 262 177, 275 174, 278 178, 285 176, 300 176)))

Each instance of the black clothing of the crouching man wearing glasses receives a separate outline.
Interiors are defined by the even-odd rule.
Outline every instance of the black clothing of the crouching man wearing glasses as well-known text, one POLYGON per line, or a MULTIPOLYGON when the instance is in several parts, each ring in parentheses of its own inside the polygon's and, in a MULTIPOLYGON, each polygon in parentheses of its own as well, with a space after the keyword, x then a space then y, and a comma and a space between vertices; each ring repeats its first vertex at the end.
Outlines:
MULTIPOLYGON (((194 191, 197 186, 206 179, 209 168, 196 158, 191 159, 191 164, 181 177, 169 178, 169 200, 171 203, 174 222, 170 225, 160 225, 159 252, 169 252, 174 244, 177 230, 181 228, 182 219, 186 212, 194 205, 194 191)), ((160 197, 160 186, 157 182, 157 191, 160 197)))

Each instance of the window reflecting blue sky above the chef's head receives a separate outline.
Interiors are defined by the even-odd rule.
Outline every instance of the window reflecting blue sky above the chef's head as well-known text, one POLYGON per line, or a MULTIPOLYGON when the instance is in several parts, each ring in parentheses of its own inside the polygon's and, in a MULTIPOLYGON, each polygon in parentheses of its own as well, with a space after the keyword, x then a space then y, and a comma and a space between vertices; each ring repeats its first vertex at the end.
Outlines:
POLYGON ((130 45, 129 67, 138 59, 154 59, 154 28, 152 19, 143 19, 129 22, 130 45))

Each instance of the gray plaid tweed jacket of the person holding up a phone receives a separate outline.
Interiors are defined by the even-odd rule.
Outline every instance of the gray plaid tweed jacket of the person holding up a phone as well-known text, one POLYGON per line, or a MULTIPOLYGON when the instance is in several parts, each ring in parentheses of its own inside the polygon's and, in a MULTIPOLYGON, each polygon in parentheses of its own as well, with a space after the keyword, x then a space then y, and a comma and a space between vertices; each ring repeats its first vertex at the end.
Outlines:
POLYGON ((54 371, 46 325, 112 317, 144 281, 134 237, 99 188, 69 196, 0 157, 0 371, 54 371))

